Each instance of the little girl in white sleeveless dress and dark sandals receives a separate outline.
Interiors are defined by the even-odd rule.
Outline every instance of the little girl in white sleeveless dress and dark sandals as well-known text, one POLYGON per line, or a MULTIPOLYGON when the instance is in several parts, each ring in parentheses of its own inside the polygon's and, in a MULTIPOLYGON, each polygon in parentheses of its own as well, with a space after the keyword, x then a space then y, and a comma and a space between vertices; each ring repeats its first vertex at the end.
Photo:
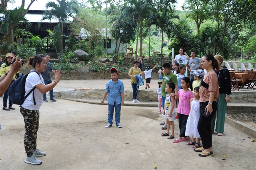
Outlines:
POLYGON ((197 124, 200 117, 200 103, 199 103, 199 86, 194 88, 194 99, 190 99, 190 113, 188 116, 188 121, 186 125, 186 133, 185 136, 192 136, 192 141, 188 142, 187 145, 194 145, 193 148, 201 147, 200 135, 197 130, 197 124), (197 142, 196 142, 197 138, 197 142))

